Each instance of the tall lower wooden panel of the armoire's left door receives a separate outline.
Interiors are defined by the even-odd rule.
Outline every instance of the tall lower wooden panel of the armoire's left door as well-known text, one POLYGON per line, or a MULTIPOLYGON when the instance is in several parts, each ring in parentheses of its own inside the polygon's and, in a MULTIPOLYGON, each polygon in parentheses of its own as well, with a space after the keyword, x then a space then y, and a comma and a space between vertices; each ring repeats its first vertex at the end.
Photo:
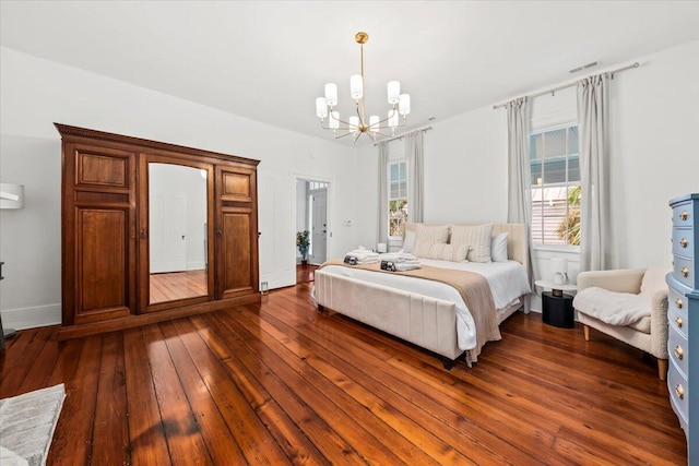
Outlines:
POLYGON ((78 207, 75 218, 79 271, 75 323, 94 320, 91 314, 99 319, 128 315, 131 268, 128 211, 78 207))

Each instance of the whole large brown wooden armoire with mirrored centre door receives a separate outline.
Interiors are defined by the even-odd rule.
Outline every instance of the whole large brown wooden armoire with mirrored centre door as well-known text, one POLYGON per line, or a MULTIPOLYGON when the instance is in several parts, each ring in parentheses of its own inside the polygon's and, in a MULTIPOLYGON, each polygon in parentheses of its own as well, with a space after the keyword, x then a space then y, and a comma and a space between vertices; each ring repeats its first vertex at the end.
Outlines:
POLYGON ((59 338, 260 301, 259 160, 56 128, 62 138, 59 338), (165 264, 158 273, 156 259, 165 264))

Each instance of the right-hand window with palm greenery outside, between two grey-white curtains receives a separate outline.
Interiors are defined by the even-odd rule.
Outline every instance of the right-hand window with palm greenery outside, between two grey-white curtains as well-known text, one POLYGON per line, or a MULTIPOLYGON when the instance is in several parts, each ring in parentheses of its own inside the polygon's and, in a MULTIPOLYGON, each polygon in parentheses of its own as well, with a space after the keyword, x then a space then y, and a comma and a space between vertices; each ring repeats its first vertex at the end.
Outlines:
POLYGON ((532 133, 530 166, 534 244, 580 246, 578 126, 532 133))

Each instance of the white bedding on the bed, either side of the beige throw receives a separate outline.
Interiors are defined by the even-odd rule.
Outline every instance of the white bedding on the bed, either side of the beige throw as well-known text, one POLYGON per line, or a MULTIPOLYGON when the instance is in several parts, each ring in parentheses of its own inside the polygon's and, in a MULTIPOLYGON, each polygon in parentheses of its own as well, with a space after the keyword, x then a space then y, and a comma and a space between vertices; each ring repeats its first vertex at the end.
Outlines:
MULTIPOLYGON (((487 279, 488 285, 490 285, 496 309, 502 309, 520 296, 531 292, 526 272, 522 264, 517 261, 475 263, 420 259, 420 263, 433 267, 457 268, 483 275, 487 279)), ((466 351, 476 346, 476 328, 473 316, 471 312, 469 312, 459 291, 447 284, 342 265, 327 265, 323 267, 323 272, 454 302, 457 304, 459 348, 466 351)))

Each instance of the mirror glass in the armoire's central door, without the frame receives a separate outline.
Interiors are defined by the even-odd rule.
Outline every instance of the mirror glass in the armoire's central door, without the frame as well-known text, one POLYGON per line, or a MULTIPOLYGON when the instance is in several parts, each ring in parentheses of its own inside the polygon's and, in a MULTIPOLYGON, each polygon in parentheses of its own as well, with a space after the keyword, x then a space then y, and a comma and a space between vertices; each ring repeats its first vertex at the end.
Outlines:
POLYGON ((150 303, 209 294, 206 170, 149 163, 150 303))

